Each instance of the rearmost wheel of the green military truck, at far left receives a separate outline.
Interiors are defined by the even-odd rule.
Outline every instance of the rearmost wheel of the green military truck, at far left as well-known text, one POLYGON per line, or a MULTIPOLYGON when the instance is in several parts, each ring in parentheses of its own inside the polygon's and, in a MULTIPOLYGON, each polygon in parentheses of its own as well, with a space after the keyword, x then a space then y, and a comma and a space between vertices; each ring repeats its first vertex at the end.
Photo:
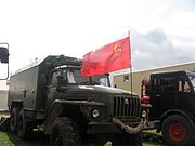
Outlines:
POLYGON ((18 108, 13 107, 10 111, 10 131, 16 133, 17 131, 17 117, 18 117, 18 108))

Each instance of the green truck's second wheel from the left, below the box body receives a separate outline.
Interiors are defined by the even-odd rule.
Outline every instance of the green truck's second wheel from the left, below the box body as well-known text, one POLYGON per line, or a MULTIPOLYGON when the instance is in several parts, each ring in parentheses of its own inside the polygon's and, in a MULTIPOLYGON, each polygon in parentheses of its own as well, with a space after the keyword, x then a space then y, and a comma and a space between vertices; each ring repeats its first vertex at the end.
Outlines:
POLYGON ((17 136, 20 138, 29 138, 32 133, 32 125, 26 121, 25 111, 22 108, 17 118, 17 136))

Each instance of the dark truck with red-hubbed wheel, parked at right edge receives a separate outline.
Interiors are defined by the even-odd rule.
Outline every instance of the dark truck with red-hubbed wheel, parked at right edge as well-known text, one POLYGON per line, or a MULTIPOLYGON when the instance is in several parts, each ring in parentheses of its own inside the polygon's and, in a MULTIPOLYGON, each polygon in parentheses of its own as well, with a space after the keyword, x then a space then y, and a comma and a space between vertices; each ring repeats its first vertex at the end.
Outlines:
POLYGON ((150 120, 160 120, 168 146, 191 146, 195 141, 195 74, 185 70, 154 72, 142 81, 142 103, 151 103, 150 120))

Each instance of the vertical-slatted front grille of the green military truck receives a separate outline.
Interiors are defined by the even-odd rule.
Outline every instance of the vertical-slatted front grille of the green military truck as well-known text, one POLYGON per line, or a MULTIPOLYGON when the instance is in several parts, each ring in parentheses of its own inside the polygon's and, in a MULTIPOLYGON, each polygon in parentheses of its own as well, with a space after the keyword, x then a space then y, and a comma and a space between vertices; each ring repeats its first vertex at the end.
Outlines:
POLYGON ((138 121, 140 119, 140 99, 130 96, 114 97, 114 116, 125 121, 138 121))

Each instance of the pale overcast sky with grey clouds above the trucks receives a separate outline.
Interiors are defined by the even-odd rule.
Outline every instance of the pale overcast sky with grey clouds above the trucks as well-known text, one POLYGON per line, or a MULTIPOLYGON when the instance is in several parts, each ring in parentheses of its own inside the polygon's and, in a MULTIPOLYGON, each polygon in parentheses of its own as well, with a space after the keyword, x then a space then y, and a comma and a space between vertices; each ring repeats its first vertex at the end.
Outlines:
POLYGON ((195 61, 194 0, 0 0, 10 71, 36 57, 81 58, 130 30, 133 69, 195 61))

